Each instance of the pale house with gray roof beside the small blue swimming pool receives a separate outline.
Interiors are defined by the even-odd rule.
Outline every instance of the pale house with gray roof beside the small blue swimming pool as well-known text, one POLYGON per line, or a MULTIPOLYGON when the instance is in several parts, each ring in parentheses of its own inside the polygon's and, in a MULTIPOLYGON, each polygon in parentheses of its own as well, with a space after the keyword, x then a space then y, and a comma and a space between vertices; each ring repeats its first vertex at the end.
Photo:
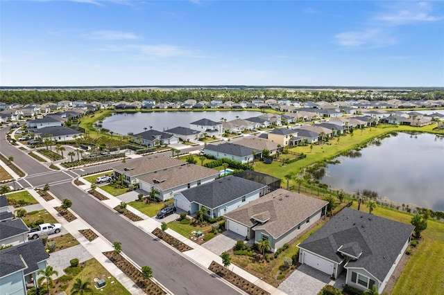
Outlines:
POLYGON ((206 155, 210 155, 216 159, 227 158, 240 163, 250 163, 253 161, 253 152, 255 157, 259 158, 262 154, 262 150, 245 147, 244 145, 238 145, 237 143, 221 143, 219 145, 209 144, 204 147, 203 152, 206 155))

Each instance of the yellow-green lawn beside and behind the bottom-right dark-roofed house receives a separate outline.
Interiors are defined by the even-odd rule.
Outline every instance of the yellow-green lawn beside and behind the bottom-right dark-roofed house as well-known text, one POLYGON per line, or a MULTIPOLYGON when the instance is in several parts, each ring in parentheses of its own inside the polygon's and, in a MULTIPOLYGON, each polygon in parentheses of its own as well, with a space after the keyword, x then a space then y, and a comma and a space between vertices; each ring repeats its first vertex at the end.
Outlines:
MULTIPOLYGON (((352 208, 357 209, 357 204, 352 208)), ((361 211, 367 211, 361 204, 361 211)), ((410 224, 413 215, 376 207, 373 214, 410 224)), ((444 294, 444 223, 429 220, 422 242, 409 258, 391 294, 444 294)))

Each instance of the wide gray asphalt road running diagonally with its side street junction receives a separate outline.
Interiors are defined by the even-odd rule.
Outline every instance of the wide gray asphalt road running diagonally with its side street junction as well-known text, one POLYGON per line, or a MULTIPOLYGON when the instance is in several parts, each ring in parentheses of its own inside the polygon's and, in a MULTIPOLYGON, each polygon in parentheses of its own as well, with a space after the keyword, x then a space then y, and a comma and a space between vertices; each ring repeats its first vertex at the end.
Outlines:
POLYGON ((121 242, 123 253, 137 265, 151 267, 154 277, 173 294, 239 294, 223 280, 215 278, 210 272, 166 247, 153 236, 101 204, 99 200, 71 184, 71 180, 81 173, 110 168, 113 164, 94 166, 83 171, 53 171, 10 145, 5 139, 7 131, 7 128, 0 129, 0 152, 6 157, 14 157, 14 163, 28 173, 24 179, 17 181, 17 185, 31 187, 50 184, 51 193, 59 199, 71 199, 73 202, 71 209, 77 215, 110 242, 121 242))

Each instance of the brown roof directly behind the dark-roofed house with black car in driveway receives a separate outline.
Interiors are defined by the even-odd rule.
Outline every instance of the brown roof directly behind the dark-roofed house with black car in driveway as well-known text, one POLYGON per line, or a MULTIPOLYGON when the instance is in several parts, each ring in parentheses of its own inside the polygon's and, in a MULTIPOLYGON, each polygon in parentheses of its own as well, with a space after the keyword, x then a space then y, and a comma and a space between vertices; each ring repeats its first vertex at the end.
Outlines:
POLYGON ((199 179, 211 176, 216 177, 218 175, 219 171, 214 169, 197 165, 186 165, 139 177, 139 180, 145 181, 148 184, 157 184, 159 188, 166 190, 168 188, 176 188, 182 184, 189 184, 199 179), (159 181, 161 182, 159 183, 159 181))

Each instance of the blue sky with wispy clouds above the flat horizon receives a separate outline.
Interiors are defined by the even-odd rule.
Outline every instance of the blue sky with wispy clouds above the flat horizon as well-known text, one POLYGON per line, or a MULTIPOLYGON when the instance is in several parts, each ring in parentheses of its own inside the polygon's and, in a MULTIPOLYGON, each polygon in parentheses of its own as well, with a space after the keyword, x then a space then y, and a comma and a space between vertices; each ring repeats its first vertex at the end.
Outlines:
POLYGON ((443 1, 0 6, 1 86, 444 87, 443 1))

